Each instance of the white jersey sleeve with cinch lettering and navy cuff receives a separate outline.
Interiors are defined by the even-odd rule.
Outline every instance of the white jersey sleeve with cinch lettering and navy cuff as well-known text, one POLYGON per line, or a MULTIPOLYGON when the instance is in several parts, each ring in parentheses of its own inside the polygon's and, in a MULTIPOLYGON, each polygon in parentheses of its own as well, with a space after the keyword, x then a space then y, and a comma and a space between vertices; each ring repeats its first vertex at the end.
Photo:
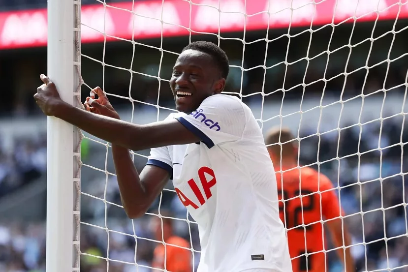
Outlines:
POLYGON ((224 142, 240 140, 246 124, 240 101, 223 94, 206 98, 196 111, 176 119, 209 149, 224 142))

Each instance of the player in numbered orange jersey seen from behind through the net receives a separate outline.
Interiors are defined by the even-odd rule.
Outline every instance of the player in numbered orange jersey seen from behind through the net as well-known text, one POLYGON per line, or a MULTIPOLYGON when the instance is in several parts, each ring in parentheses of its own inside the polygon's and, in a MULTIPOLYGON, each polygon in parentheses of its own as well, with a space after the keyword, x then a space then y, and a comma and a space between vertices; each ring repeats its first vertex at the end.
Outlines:
POLYGON ((350 249, 342 248, 350 244, 350 236, 340 219, 343 212, 332 182, 310 167, 297 168, 296 143, 287 128, 272 128, 265 137, 278 182, 279 212, 288 229, 293 272, 328 271, 322 220, 329 228, 334 246, 340 247, 337 253, 345 271, 354 272, 350 249))

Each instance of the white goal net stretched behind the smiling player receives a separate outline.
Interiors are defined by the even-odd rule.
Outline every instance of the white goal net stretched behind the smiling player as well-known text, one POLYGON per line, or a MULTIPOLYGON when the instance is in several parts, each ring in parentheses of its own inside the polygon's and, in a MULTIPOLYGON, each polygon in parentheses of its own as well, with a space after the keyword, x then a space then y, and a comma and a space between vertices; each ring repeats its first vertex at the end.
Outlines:
MULTIPOLYGON (((225 92, 250 106, 264 133, 288 127, 299 143, 299 166, 333 182, 358 271, 408 271, 407 0, 74 0, 73 5, 74 77, 82 92, 74 86, 75 97, 83 102, 100 86, 122 120, 161 121, 175 111, 169 80, 182 48, 213 41, 230 60, 225 92)), ((169 221, 172 235, 188 243, 177 247, 178 254, 188 251, 195 271, 197 225, 171 181, 143 217, 130 220, 109 143, 78 135, 73 271, 79 265, 84 272, 151 271, 160 246, 170 248, 163 241, 169 221)), ((139 173, 148 155, 132 153, 139 173)), ((341 271, 344 260, 329 235, 325 240, 327 271, 341 271)))

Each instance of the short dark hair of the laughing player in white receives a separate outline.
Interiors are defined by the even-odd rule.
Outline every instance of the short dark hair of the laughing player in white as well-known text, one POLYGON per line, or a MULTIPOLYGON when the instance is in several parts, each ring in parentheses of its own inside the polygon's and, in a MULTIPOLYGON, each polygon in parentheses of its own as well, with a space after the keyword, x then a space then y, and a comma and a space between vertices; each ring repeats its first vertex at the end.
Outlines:
POLYGON ((218 65, 218 68, 220 69, 221 76, 225 79, 227 78, 229 73, 229 61, 227 54, 225 54, 225 52, 215 43, 208 41, 195 41, 183 48, 182 52, 188 49, 207 53, 208 55, 213 57, 214 61, 218 65))

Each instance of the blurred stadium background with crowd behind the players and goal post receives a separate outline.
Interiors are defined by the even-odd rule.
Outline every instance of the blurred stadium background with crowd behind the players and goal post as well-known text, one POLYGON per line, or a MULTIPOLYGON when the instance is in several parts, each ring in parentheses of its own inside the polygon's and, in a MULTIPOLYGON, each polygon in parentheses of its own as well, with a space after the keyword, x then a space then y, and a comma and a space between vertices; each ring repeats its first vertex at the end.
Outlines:
MULTIPOLYGON (((175 108, 168 80, 177 54, 190 41, 219 44, 231 64, 225 91, 264 132, 290 127, 301 164, 339 186, 357 271, 407 272, 407 0, 270 2, 82 0, 82 77, 110 94, 123 120, 163 120, 175 108)), ((47 73, 46 7, 0 0, 1 272, 45 272, 47 130, 32 96, 47 73)), ((88 93, 83 86, 83 101, 88 93)), ((109 204, 121 205, 111 151, 85 136, 81 251, 102 258, 82 256, 81 272, 106 272, 108 254, 108 272, 136 271, 135 254, 137 271, 150 272, 152 216, 132 222, 109 204)), ((139 171, 149 151, 140 154, 139 171)), ((171 181, 166 188, 150 212, 160 203, 186 219, 171 181)), ((194 223, 175 220, 174 232, 200 250, 194 223)), ((198 252, 194 260, 196 268, 198 252)), ((328 260, 330 272, 342 271, 334 252, 328 260)))

